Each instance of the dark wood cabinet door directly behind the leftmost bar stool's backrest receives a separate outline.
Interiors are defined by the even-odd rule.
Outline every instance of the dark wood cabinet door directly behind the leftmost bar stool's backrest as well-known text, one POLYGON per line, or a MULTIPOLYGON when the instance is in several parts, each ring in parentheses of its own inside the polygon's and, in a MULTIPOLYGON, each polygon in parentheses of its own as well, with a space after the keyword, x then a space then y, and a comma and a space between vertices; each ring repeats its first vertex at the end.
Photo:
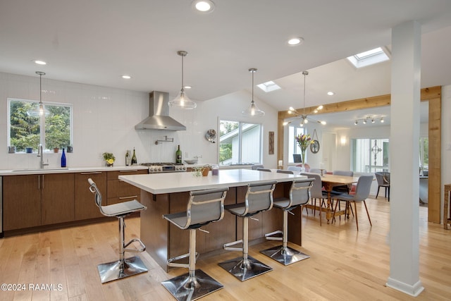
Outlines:
POLYGON ((92 178, 102 195, 102 202, 106 204, 106 172, 92 171, 75 173, 75 221, 102 217, 97 207, 94 195, 89 191, 87 179, 92 178))

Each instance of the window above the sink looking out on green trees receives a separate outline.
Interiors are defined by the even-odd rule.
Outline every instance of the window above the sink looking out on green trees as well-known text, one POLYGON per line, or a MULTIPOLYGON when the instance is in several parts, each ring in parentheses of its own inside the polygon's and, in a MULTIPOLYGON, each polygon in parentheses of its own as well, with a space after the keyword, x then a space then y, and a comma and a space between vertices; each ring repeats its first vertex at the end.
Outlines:
POLYGON ((44 104, 48 116, 30 115, 38 105, 31 100, 8 99, 9 145, 15 146, 16 152, 25 152, 25 147, 36 151, 39 144, 47 150, 72 145, 72 105, 44 104))

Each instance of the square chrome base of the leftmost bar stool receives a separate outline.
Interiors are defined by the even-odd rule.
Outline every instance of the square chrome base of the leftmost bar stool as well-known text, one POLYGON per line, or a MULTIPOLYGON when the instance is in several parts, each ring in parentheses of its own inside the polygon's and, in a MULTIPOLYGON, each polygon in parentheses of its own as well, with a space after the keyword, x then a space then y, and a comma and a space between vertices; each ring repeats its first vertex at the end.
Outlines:
POLYGON ((123 265, 123 269, 121 269, 121 260, 117 260, 116 262, 108 262, 106 264, 99 264, 97 269, 99 269, 101 283, 122 279, 147 271, 147 267, 144 265, 139 256, 125 259, 123 265))

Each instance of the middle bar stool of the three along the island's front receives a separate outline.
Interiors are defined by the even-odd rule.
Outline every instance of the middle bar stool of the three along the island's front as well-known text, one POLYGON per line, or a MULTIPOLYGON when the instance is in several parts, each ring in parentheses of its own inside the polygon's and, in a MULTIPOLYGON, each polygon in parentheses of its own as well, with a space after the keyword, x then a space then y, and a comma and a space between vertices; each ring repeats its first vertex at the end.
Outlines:
MULTIPOLYGON (((254 276, 264 274, 273 269, 257 259, 250 257, 249 252, 249 218, 261 211, 270 210, 273 207, 273 191, 276 188, 276 181, 253 183, 247 185, 245 202, 227 205, 225 208, 235 216, 242 217, 242 239, 235 242, 226 243, 223 248, 228 251, 242 251, 242 257, 221 262, 219 266, 230 274, 245 281, 254 276), (242 243, 242 247, 231 247, 242 243)), ((258 219, 254 219, 258 221, 258 219)))

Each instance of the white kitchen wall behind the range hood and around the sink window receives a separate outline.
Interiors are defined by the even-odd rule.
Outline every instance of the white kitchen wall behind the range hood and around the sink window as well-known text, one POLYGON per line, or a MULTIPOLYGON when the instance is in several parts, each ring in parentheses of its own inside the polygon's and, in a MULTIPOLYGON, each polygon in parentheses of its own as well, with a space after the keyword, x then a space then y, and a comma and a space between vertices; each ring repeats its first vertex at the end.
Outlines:
MULTIPOLYGON (((175 161, 175 149, 180 145, 183 158, 202 156, 200 163, 217 163, 217 143, 204 137, 210 128, 218 131, 218 117, 262 123, 264 128, 263 160, 276 168, 276 154, 268 155, 268 131, 277 135, 277 111, 255 99, 266 112, 264 118, 241 117, 250 104, 248 92, 236 92, 206 102, 197 102, 194 110, 170 110, 170 115, 183 123, 186 131, 135 130, 135 124, 149 113, 149 94, 110 87, 82 85, 42 78, 43 102, 73 104, 73 153, 67 154, 69 167, 102 166, 101 153, 113 152, 116 165, 125 165, 125 151, 135 147, 138 163, 175 161), (155 145, 164 136, 174 142, 155 145)), ((189 92, 188 92, 189 94, 189 92)), ((0 169, 37 168, 36 154, 8 154, 7 99, 39 100, 39 78, 0 73, 0 169)), ((277 141, 277 138, 276 138, 277 141)), ((275 145, 277 149, 277 145, 275 145)), ((59 166, 61 154, 45 154, 50 167, 59 166)))

